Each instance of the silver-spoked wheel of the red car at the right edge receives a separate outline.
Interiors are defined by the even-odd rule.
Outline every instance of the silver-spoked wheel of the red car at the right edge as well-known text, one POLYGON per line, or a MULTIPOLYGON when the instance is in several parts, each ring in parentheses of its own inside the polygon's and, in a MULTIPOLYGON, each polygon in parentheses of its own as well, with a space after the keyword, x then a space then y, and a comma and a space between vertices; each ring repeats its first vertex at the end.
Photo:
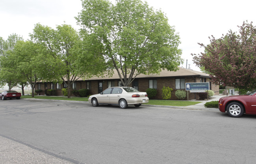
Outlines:
POLYGON ((243 106, 238 102, 232 102, 228 104, 226 111, 231 117, 241 117, 243 115, 243 106))

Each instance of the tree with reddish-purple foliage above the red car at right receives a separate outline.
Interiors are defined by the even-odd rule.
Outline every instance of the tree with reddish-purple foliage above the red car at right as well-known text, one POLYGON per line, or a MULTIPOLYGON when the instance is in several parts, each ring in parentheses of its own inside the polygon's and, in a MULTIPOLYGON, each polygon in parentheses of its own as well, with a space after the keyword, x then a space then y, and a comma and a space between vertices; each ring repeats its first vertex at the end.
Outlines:
POLYGON ((239 89, 256 87, 256 27, 243 22, 239 33, 228 31, 219 39, 213 36, 205 52, 193 57, 197 66, 210 72, 215 84, 233 86, 239 89))

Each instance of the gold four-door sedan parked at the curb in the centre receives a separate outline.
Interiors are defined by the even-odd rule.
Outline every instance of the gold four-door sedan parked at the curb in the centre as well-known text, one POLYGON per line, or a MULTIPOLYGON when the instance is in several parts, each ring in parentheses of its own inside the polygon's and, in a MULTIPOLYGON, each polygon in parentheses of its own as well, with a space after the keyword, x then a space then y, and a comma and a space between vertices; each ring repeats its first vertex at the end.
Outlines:
POLYGON ((109 87, 103 92, 91 95, 88 99, 93 106, 99 104, 119 105, 120 108, 125 109, 128 105, 136 107, 148 102, 146 92, 140 92, 133 87, 109 87))

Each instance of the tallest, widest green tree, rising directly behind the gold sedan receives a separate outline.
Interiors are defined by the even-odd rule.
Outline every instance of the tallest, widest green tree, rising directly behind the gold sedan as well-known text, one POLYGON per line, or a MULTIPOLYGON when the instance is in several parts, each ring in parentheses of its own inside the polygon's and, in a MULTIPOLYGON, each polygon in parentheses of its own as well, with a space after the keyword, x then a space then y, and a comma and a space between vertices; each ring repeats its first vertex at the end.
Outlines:
POLYGON ((179 35, 161 11, 140 0, 82 0, 76 17, 89 44, 88 53, 102 55, 124 86, 139 74, 176 71, 182 63, 179 35))

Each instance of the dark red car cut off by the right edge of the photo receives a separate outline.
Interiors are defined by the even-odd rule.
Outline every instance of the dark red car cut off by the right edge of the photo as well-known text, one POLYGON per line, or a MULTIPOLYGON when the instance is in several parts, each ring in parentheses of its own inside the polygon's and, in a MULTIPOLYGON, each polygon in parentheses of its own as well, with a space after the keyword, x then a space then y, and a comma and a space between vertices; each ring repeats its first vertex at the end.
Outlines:
POLYGON ((219 110, 221 112, 227 111, 231 117, 241 117, 243 113, 256 115, 256 90, 247 95, 220 98, 219 110))

